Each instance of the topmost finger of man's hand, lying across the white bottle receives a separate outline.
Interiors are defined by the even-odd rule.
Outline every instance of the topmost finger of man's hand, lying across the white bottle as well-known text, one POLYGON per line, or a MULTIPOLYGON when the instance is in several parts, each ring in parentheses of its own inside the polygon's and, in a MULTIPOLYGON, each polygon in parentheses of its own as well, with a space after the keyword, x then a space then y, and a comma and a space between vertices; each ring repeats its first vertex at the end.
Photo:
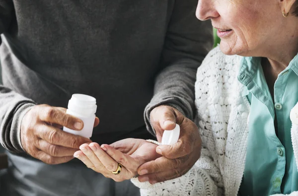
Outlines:
POLYGON ((61 108, 57 109, 51 106, 41 107, 37 111, 37 117, 44 122, 58 124, 72 130, 81 130, 84 125, 83 122, 69 114, 66 114, 61 108))

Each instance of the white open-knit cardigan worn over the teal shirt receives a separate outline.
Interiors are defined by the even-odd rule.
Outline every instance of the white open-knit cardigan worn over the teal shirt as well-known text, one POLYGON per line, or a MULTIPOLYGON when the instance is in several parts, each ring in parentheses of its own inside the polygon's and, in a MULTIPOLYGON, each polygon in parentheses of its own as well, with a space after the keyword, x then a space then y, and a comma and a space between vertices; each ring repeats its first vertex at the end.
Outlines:
MULTIPOLYGON (((250 104, 238 79, 241 57, 212 50, 197 72, 197 124, 201 157, 184 176, 150 185, 132 182, 142 196, 237 196, 244 173, 250 104)), ((292 143, 298 163, 298 126, 292 143)), ((298 196, 294 192, 291 196, 298 196)))

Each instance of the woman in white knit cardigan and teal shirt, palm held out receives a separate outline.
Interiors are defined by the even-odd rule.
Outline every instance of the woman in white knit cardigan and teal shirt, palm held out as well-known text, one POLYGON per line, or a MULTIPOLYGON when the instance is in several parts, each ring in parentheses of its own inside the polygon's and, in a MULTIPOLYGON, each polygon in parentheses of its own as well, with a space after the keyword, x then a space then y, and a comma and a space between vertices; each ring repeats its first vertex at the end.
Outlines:
MULTIPOLYGON (((197 17, 211 19, 221 38, 197 73, 201 157, 175 180, 132 181, 148 196, 298 195, 297 0, 199 0, 197 17)), ((75 155, 99 172, 122 163, 112 177, 122 180, 162 158, 154 145, 128 139, 75 155)))

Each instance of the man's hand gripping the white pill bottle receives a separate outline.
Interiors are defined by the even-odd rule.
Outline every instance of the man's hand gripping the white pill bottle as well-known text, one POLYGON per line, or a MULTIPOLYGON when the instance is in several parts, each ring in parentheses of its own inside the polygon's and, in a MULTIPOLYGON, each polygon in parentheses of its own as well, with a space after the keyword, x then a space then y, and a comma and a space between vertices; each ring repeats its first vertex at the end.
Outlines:
MULTIPOLYGON (((96 118, 94 127, 99 124, 96 118)), ((62 131, 63 127, 81 130, 83 122, 66 114, 65 108, 37 105, 31 108, 21 122, 21 144, 31 156, 47 164, 60 164, 74 158, 74 152, 88 138, 62 131)))

